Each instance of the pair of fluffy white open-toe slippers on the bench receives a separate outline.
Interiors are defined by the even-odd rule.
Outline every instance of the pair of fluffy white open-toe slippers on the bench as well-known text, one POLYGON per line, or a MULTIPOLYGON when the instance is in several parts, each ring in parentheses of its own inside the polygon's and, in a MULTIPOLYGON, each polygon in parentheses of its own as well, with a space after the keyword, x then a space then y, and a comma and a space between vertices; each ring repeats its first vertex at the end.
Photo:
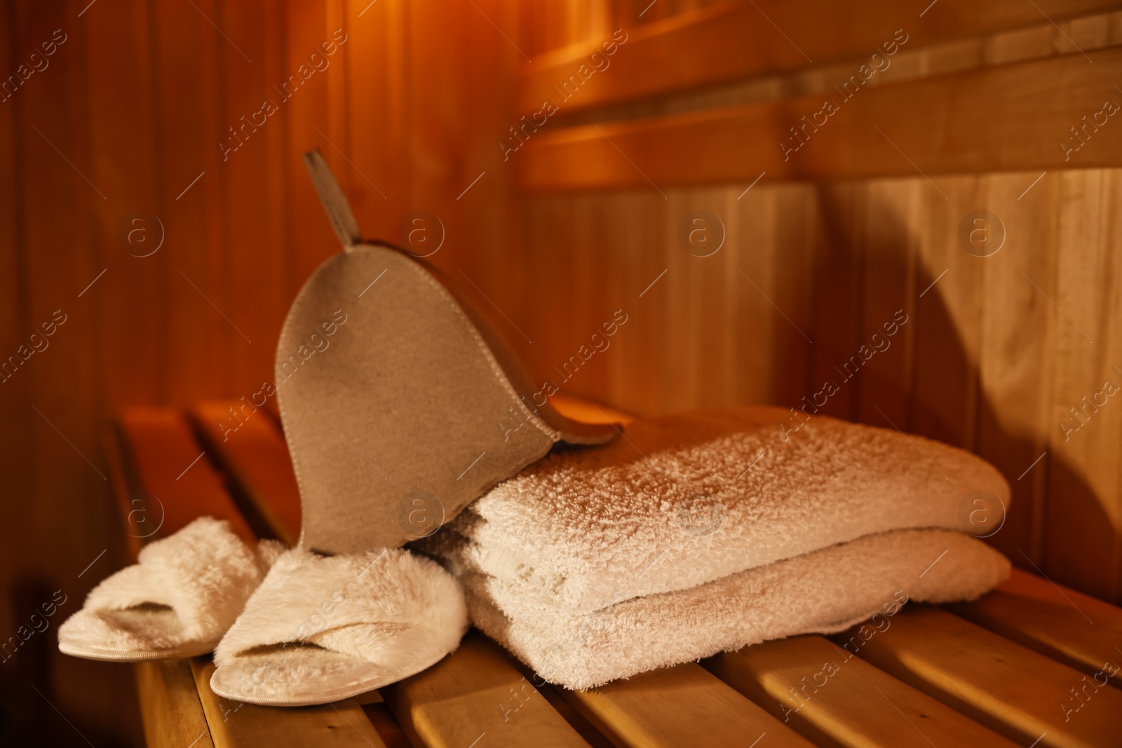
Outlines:
POLYGON ((413 675, 456 649, 467 625, 458 582, 426 557, 251 547, 201 517, 95 587, 58 648, 117 662, 213 652, 214 693, 297 707, 413 675))

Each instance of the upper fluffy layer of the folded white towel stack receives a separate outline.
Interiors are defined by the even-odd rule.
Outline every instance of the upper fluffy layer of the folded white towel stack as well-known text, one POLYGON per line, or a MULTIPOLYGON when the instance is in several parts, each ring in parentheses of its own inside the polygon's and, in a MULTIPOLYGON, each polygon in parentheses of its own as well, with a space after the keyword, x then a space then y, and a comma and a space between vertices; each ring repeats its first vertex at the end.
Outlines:
POLYGON ((872 533, 960 529, 974 491, 1009 504, 992 465, 920 436, 783 408, 697 412, 557 452, 421 547, 448 555, 451 542, 527 604, 588 612, 872 533))

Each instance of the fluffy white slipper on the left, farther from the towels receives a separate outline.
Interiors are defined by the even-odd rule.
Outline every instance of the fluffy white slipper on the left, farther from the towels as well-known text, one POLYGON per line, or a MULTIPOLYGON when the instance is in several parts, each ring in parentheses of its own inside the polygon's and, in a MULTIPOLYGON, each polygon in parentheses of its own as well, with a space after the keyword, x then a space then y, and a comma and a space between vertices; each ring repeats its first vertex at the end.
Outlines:
POLYGON ((283 552, 277 541, 255 552, 230 523, 200 517, 93 588, 58 628, 58 649, 121 662, 206 654, 283 552))

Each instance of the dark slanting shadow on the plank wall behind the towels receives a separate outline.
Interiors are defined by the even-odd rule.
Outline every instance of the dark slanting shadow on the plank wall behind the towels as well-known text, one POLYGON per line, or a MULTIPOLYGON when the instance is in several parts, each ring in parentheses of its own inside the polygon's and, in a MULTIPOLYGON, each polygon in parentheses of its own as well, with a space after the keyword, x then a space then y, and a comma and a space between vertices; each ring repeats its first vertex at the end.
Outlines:
MULTIPOLYGON (((964 327, 981 325, 981 318, 972 318, 960 310, 955 314, 947 298, 960 301, 962 296, 932 289, 939 278, 923 267, 916 248, 917 229, 905 223, 895 206, 877 205, 872 201, 866 212, 875 213, 876 220, 884 224, 875 231, 855 232, 852 230, 853 205, 839 200, 831 187, 819 187, 818 202, 826 236, 819 244, 825 252, 819 252, 816 264, 815 288, 842 288, 843 293, 827 295, 825 303, 815 303, 817 312, 812 324, 816 330, 811 333, 815 344, 808 347, 811 381, 828 376, 836 379, 835 366, 866 343, 876 330, 876 321, 892 318, 895 310, 905 310, 911 326, 909 339, 898 341, 899 344, 884 354, 876 353, 867 368, 855 376, 855 380, 861 381, 848 386, 846 396, 831 399, 822 412, 874 426, 894 425, 904 432, 967 449, 990 461, 1009 481, 1012 502, 1005 524, 986 542, 1017 566, 1038 574, 1042 572, 1056 582, 1114 600, 1115 570, 1111 565, 1115 529, 1100 498, 1078 471, 1056 454, 1048 431, 1033 438, 1023 433, 1028 430, 1022 428, 1019 434, 1006 425, 1028 419, 1036 422, 1033 432, 1040 428, 1041 421, 1048 430, 1056 428, 1050 417, 1051 403, 1040 401, 1039 396, 1036 401, 1030 398, 1017 400, 1012 407, 1029 414, 1046 414, 1042 418, 1034 415, 1026 418, 1023 413, 1009 413, 1008 401, 1003 405, 1005 413, 1000 413, 987 399, 981 381, 980 357, 972 359, 964 342, 964 327), (859 239, 855 241, 854 236, 859 239), (901 251, 902 246, 909 244, 910 251, 901 251), (919 296, 925 289, 931 290, 919 296), (846 322, 838 325, 837 320, 846 322), (833 334, 839 329, 855 334, 833 334), (1045 450, 1047 454, 1036 462, 1045 450), (1087 570, 1092 569, 1101 571, 1091 575, 1087 570)), ((948 251, 962 255, 945 255, 948 265, 959 273, 974 274, 966 280, 963 277, 955 280, 978 284, 967 287, 967 298, 980 298, 983 290, 981 266, 969 264, 990 262, 996 256, 971 257, 958 247, 954 234, 946 239, 948 244, 954 244, 948 251), (956 266, 956 262, 965 265, 956 266)), ((1004 251, 1009 255, 1017 250, 1005 247, 1004 251)), ((1015 273, 1012 266, 1008 269, 1015 273)), ((942 278, 941 283, 948 280, 950 278, 942 278)), ((948 288, 941 290, 949 292, 948 288)), ((977 333, 976 330, 971 332, 977 333)), ((1009 345, 1008 341, 993 344, 1009 345)), ((1015 344, 1009 348, 1012 355, 1022 353, 1015 344)), ((1009 351, 1003 354, 1010 355, 1009 351)), ((1032 351, 1023 354, 1031 355, 1032 351)), ((782 366, 782 360, 778 359, 776 363, 782 366)), ((1045 376, 1042 363, 1038 360, 1027 367, 1038 380, 1045 376)), ((793 372, 780 372, 780 376, 783 373, 793 372)), ((1026 391, 1041 391, 1037 381, 1030 384, 1032 387, 1026 391)))

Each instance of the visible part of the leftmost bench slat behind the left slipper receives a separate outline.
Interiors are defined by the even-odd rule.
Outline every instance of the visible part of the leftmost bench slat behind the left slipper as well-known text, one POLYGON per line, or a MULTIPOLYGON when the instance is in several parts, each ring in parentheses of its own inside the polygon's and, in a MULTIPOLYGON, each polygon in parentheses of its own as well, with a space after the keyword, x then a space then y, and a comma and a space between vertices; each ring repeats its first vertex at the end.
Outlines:
POLYGON ((126 449, 126 474, 131 473, 146 497, 131 496, 135 515, 128 532, 165 537, 196 517, 227 519, 239 537, 256 539, 222 483, 222 477, 203 455, 187 419, 172 408, 128 408, 118 421, 126 449), (142 521, 140 521, 142 519, 142 521), (158 526, 158 532, 151 532, 158 526))

